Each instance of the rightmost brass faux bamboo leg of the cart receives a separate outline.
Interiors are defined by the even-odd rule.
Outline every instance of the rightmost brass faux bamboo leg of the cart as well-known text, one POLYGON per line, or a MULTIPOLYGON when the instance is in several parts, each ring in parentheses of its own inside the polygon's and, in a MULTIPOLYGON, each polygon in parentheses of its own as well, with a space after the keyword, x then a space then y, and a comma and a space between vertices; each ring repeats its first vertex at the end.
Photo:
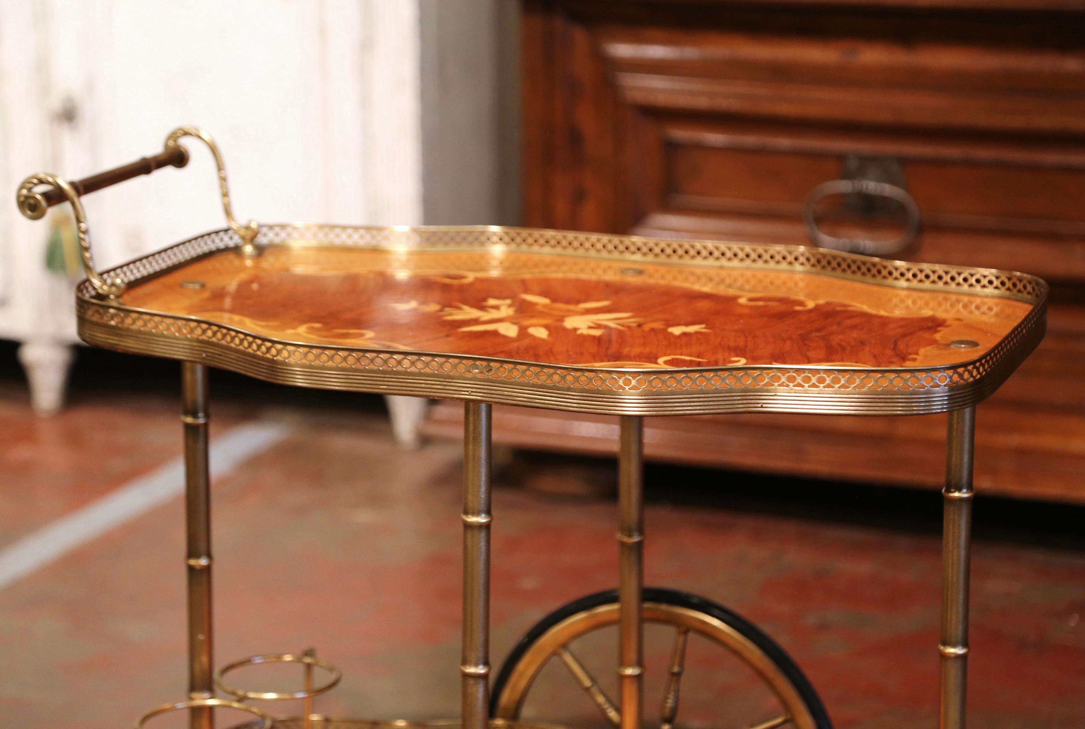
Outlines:
POLYGON ((949 413, 946 485, 942 490, 941 729, 965 729, 968 680, 968 590, 972 540, 972 451, 975 407, 949 413))

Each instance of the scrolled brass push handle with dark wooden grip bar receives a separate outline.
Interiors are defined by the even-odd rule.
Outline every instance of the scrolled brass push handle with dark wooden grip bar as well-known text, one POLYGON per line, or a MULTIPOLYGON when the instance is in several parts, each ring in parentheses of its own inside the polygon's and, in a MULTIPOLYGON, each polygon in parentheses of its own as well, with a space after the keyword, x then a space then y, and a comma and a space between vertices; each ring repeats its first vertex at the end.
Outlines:
POLYGON ((87 213, 79 197, 140 175, 150 175, 163 167, 184 167, 189 162, 189 151, 178 142, 182 137, 195 137, 210 149, 210 153, 215 157, 215 165, 218 167, 218 187, 222 197, 226 221, 241 239, 241 253, 245 256, 257 255, 259 248, 255 241, 259 229, 256 221, 250 220, 242 226, 234 219, 233 209, 230 206, 230 190, 226 180, 226 164, 222 162, 222 155, 210 135, 199 127, 178 127, 171 131, 166 137, 165 149, 159 154, 143 157, 81 180, 69 182, 62 177, 47 172, 31 175, 18 186, 15 202, 18 204, 20 212, 31 220, 42 218, 46 210, 58 203, 65 201, 71 203, 72 214, 76 221, 76 235, 79 239, 79 260, 87 273, 87 280, 90 281, 90 285, 99 295, 106 298, 117 298, 124 292, 125 284, 117 278, 106 281, 94 270, 94 259, 90 252, 90 229, 87 225, 87 213), (37 188, 42 184, 51 186, 51 189, 39 192, 37 188))

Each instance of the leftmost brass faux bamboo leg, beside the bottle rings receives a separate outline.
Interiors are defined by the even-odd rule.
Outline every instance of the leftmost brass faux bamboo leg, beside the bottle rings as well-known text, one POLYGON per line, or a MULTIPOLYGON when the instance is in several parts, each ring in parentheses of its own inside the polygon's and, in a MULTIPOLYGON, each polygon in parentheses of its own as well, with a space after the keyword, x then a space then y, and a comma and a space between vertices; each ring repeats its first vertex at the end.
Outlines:
MULTIPOLYGON (((207 368, 181 364, 184 423, 184 526, 189 573, 189 696, 215 695, 212 661, 210 476, 207 470, 207 368)), ((213 729, 209 707, 191 709, 191 729, 213 729)))

